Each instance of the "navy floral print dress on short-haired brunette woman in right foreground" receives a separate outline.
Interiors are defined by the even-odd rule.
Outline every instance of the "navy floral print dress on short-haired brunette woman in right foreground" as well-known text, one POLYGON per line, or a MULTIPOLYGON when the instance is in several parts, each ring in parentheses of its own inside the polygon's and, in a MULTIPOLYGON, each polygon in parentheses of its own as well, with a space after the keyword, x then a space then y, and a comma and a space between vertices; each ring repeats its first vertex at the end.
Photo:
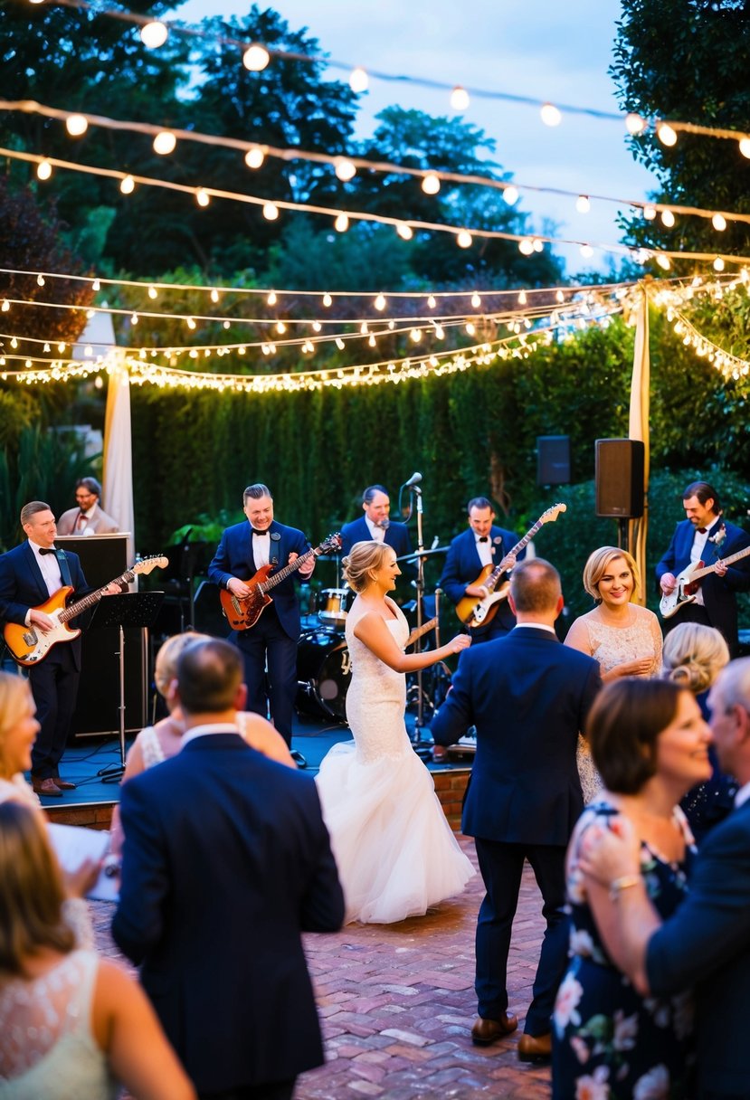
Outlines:
MULTIPOLYGON (((604 800, 588 806, 576 825, 569 856, 571 961, 552 1015, 553 1100, 677 1100, 691 1094, 693 1012, 688 993, 665 1000, 642 998, 610 961, 586 903, 577 851, 595 822, 617 811, 604 800)), ((695 856, 681 811, 685 861, 669 864, 644 843, 641 873, 651 903, 664 919, 687 892, 695 856)))

